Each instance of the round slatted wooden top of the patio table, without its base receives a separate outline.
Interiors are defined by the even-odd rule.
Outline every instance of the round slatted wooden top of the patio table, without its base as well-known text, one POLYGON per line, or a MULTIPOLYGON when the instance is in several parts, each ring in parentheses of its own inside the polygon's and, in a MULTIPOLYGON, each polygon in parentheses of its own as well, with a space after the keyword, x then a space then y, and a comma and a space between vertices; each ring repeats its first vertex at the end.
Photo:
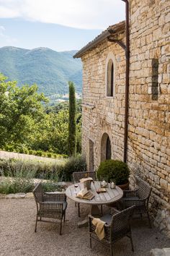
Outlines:
POLYGON ((91 192, 95 197, 91 200, 81 199, 76 197, 77 193, 84 188, 84 184, 77 183, 78 187, 75 187, 75 184, 69 186, 66 189, 66 196, 75 202, 80 202, 90 205, 107 205, 112 202, 116 202, 122 198, 123 192, 120 187, 115 187, 115 189, 106 188, 106 192, 97 193, 97 189, 100 188, 100 182, 91 182, 91 192))

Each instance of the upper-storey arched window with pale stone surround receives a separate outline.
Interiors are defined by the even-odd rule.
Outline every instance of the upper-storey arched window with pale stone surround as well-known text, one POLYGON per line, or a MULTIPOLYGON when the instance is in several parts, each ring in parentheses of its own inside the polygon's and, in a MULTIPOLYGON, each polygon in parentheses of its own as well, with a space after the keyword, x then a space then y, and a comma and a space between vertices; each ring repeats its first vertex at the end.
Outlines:
POLYGON ((115 96, 115 56, 112 53, 106 59, 106 95, 115 96))

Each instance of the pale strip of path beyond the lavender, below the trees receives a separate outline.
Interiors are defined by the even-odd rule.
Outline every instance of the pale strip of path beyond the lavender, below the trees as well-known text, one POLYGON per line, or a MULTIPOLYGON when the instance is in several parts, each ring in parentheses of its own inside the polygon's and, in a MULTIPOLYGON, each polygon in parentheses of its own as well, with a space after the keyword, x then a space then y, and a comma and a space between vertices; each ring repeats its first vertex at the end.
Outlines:
POLYGON ((37 155, 27 155, 15 152, 7 152, 0 150, 0 158, 8 159, 8 158, 15 158, 19 160, 35 160, 35 161, 43 161, 43 162, 52 162, 52 163, 63 163, 63 159, 55 159, 55 158, 45 158, 42 156, 37 155))

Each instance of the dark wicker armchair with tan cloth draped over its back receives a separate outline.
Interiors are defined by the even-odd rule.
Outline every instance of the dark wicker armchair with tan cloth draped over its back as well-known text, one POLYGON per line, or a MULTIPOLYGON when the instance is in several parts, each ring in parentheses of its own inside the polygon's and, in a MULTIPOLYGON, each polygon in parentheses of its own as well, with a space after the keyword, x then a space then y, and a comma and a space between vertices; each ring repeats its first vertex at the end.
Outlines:
POLYGON ((135 206, 131 206, 128 209, 117 211, 112 210, 112 213, 109 213, 102 218, 100 218, 102 221, 106 222, 104 224, 104 239, 102 241, 99 240, 97 234, 95 233, 96 227, 93 225, 92 216, 89 215, 89 236, 90 236, 90 248, 91 248, 91 239, 96 240, 97 242, 102 243, 105 246, 110 247, 110 255, 113 255, 113 249, 112 246, 115 242, 117 242, 119 239, 122 239, 124 236, 128 236, 130 238, 132 250, 134 252, 133 248, 133 239, 131 234, 131 228, 130 228, 130 221, 133 216, 133 211, 135 209, 135 206))

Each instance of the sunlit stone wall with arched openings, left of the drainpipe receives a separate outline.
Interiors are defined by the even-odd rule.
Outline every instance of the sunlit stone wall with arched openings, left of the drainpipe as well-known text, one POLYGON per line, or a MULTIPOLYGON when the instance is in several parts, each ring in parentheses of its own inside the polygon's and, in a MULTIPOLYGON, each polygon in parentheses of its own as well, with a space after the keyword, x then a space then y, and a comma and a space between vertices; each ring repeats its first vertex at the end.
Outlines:
MULTIPOLYGON (((120 35, 123 38, 124 35, 120 35)), ((82 152, 90 166, 90 145, 94 142, 94 169, 101 161, 102 135, 107 133, 112 145, 112 158, 123 157, 125 112, 125 51, 116 43, 104 41, 82 58, 83 120, 82 152), (115 97, 106 96, 106 59, 115 55, 115 97), (90 142, 89 142, 90 140, 90 142), (89 145, 90 144, 90 145, 89 145)))

